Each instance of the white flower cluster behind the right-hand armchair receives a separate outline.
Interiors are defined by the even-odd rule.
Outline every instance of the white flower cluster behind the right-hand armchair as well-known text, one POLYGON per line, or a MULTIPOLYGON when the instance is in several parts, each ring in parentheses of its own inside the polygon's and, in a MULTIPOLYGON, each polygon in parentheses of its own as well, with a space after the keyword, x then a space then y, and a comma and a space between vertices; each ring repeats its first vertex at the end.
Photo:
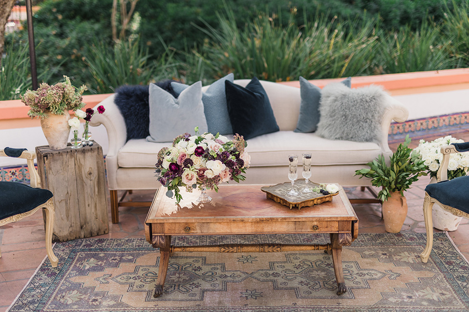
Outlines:
MULTIPOLYGON (((425 169, 431 177, 436 178, 436 173, 440 168, 443 154, 440 149, 451 143, 462 143, 464 140, 451 136, 440 137, 431 142, 420 140, 419 146, 414 149, 414 153, 418 159, 424 161, 425 169)), ((448 162, 448 180, 458 176, 466 176, 469 171, 469 155, 468 153, 458 153, 449 155, 448 162)))

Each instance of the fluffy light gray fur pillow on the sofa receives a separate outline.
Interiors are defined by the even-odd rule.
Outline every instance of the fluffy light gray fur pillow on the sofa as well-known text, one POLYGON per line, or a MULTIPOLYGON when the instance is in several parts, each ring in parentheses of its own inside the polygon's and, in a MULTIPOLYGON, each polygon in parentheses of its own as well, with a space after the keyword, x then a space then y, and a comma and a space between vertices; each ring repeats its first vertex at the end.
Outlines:
POLYGON ((317 134, 332 140, 379 142, 386 93, 380 86, 350 89, 330 83, 321 92, 317 134))

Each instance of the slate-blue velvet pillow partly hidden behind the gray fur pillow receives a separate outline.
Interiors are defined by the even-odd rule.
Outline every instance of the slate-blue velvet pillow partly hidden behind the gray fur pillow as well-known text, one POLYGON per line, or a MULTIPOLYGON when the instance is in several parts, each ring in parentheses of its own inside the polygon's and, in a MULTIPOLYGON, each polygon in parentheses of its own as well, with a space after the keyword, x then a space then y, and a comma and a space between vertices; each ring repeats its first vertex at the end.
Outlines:
MULTIPOLYGON (((341 81, 347 87, 352 86, 352 78, 349 77, 341 81)), ((297 128, 294 132, 315 132, 320 119, 319 102, 321 100, 321 89, 303 77, 299 77, 299 89, 301 103, 299 106, 299 116, 297 128)))

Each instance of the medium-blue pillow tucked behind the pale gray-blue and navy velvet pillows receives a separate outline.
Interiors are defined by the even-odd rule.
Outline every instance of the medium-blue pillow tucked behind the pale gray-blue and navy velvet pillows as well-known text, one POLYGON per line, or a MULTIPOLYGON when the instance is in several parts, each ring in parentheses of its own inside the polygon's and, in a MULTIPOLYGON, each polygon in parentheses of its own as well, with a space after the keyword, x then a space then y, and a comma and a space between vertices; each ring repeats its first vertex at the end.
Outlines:
MULTIPOLYGON (((207 91, 202 93, 202 102, 204 103, 204 113, 207 119, 207 126, 209 132, 216 134, 219 132, 221 135, 228 135, 233 133, 230 116, 228 115, 228 108, 226 104, 225 80, 233 82, 235 75, 228 74, 227 76, 216 80, 210 85, 207 91)), ((176 94, 180 94, 189 86, 178 82, 171 82, 171 87, 176 94)))

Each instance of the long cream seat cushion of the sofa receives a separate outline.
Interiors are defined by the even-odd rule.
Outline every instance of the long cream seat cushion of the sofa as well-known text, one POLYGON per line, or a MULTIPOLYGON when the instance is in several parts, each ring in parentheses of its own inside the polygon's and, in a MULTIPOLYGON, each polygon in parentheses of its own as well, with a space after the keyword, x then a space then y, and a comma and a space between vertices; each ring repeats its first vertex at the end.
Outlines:
MULTIPOLYGON (((232 136, 227 137, 233 139, 232 136)), ((332 141, 318 137, 315 133, 293 131, 278 131, 247 142, 251 167, 287 166, 289 154, 301 155, 304 152, 311 152, 312 165, 364 165, 382 152, 377 144, 371 142, 332 141)), ((119 151, 119 167, 153 168, 159 150, 170 145, 150 143, 145 139, 129 140, 119 151)))

